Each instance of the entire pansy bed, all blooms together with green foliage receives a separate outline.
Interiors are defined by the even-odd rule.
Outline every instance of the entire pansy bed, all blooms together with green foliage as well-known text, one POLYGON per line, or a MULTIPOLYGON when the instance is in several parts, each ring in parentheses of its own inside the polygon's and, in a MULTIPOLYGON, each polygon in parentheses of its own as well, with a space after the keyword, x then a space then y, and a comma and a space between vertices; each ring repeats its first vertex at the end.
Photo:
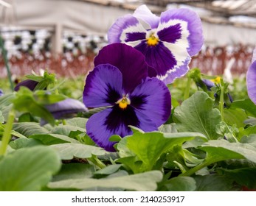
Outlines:
POLYGON ((108 43, 86 79, 0 84, 0 191, 254 191, 255 51, 239 84, 189 69, 198 15, 145 5, 108 43))

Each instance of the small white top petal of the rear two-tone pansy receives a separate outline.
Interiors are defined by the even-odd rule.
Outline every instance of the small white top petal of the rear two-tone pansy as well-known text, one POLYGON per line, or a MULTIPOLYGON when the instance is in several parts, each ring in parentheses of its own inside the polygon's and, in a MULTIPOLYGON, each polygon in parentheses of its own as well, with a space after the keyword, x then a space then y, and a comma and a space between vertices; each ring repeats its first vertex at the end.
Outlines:
POLYGON ((134 11, 134 17, 145 21, 151 26, 151 29, 155 29, 159 24, 159 16, 151 13, 151 10, 148 9, 146 5, 141 5, 134 11))

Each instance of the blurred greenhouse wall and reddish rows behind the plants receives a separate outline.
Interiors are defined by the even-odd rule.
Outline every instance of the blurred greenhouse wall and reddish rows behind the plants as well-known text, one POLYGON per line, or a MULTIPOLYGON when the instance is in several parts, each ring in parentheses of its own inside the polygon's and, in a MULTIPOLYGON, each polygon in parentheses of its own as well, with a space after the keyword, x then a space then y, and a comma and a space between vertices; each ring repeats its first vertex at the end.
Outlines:
MULTIPOLYGON (((43 68, 84 77, 107 44, 111 24, 141 4, 157 15, 170 8, 196 11, 205 42, 190 68, 245 77, 256 43, 256 0, 0 0, 0 35, 11 73, 21 77, 43 68)), ((0 78, 7 77, 4 67, 0 49, 0 78)))

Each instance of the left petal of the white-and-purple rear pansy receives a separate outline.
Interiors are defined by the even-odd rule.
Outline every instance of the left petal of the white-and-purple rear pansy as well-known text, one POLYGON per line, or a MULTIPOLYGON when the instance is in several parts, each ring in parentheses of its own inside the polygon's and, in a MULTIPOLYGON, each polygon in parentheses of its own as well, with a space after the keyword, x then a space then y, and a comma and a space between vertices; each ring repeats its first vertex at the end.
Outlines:
POLYGON ((146 29, 132 15, 125 15, 108 29, 108 43, 130 42, 145 39, 146 29))

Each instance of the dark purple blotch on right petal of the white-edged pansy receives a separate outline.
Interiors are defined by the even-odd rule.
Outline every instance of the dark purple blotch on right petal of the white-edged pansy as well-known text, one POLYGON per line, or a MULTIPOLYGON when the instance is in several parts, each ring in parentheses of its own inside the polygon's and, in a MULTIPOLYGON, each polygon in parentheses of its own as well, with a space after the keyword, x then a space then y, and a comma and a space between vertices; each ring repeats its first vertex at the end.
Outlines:
POLYGON ((157 32, 157 35, 162 41, 166 41, 168 43, 176 43, 176 40, 181 38, 181 25, 176 24, 169 26, 157 32))

